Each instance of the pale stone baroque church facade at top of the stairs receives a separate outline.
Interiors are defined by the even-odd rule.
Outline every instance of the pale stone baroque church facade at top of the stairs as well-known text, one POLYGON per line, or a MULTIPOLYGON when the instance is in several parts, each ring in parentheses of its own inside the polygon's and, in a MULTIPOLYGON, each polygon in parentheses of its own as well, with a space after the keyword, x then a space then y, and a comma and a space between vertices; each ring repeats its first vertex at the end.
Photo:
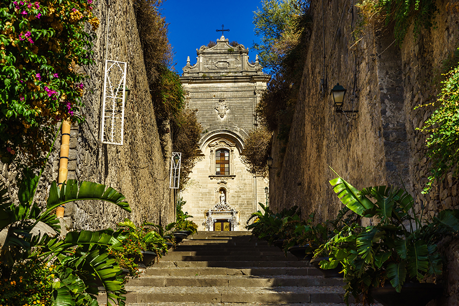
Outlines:
POLYGON ((241 160, 244 138, 257 128, 255 107, 270 80, 248 49, 222 35, 212 47, 196 49, 180 78, 188 107, 203 127, 199 158, 181 196, 183 210, 199 231, 243 231, 252 212, 265 203, 268 181, 254 176, 241 160), (266 188, 266 190, 265 190, 266 188))

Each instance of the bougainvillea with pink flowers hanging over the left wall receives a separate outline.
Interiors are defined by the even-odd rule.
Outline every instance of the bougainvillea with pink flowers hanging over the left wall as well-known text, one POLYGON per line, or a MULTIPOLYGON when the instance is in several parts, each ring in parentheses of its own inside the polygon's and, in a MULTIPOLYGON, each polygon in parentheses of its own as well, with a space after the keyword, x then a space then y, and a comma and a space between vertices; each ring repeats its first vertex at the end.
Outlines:
POLYGON ((77 69, 94 63, 94 34, 84 28, 95 31, 99 20, 92 0, 0 3, 0 160, 35 168, 56 124, 82 119, 85 76, 77 69))

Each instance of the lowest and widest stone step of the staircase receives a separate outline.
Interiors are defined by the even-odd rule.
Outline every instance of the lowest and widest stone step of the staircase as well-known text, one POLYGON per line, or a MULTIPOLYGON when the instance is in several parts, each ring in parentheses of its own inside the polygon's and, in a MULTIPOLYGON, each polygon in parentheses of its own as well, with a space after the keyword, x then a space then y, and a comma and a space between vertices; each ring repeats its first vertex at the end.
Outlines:
MULTIPOLYGON (((341 287, 133 287, 126 286, 126 303, 342 303, 341 287)), ((100 303, 106 301, 99 294, 100 303)))

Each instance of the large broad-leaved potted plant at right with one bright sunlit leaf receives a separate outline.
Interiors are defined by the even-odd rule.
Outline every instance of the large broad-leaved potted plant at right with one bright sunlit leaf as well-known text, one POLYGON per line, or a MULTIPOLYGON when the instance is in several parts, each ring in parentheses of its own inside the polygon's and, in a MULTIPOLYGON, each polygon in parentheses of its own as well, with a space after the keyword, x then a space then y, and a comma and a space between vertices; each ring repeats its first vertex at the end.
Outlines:
POLYGON ((330 184, 346 207, 362 217, 373 218, 374 223, 366 227, 347 226, 329 244, 330 263, 341 262, 344 266, 346 303, 352 295, 363 304, 377 298, 391 305, 393 298, 381 299, 376 293, 379 288, 391 287, 398 300, 414 300, 404 297, 413 287, 420 288, 416 297, 431 293, 426 296, 428 300, 417 301, 417 305, 441 292, 435 285, 442 273, 437 244, 447 235, 457 235, 457 210, 441 211, 426 218, 423 207, 420 216, 415 213, 413 197, 401 188, 377 186, 359 191, 341 177, 330 184), (346 231, 347 235, 342 235, 346 231), (411 288, 406 289, 407 285, 411 288))

